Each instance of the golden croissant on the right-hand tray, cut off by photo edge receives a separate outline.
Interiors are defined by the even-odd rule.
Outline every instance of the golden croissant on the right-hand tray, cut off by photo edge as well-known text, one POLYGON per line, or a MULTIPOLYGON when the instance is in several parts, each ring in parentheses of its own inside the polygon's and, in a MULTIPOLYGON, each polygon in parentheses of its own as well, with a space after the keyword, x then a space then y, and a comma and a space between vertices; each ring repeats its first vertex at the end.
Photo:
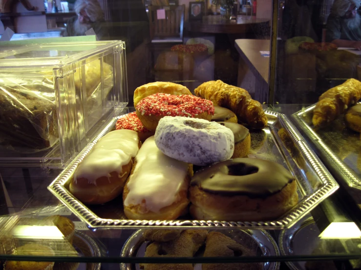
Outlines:
POLYGON ((341 85, 327 90, 319 97, 313 111, 312 123, 316 127, 324 127, 347 108, 356 104, 361 98, 361 82, 357 79, 348 79, 341 85))

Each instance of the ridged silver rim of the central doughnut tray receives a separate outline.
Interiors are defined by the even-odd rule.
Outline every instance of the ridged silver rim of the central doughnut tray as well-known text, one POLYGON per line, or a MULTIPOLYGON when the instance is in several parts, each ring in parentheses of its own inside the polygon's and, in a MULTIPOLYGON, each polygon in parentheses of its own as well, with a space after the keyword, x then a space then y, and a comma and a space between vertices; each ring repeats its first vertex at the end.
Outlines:
POLYGON ((53 193, 66 207, 69 208, 77 217, 84 221, 90 229, 186 229, 186 228, 242 228, 253 230, 282 230, 291 227, 305 214, 315 208, 322 200, 334 193, 339 185, 324 165, 319 161, 317 155, 308 147, 303 138, 288 120, 288 118, 280 113, 265 111, 267 116, 277 117, 282 126, 287 129, 293 136, 296 144, 300 147, 307 157, 309 166, 313 167, 317 172, 323 185, 320 189, 309 194, 302 203, 294 207, 282 219, 266 221, 266 222, 233 222, 233 221, 211 221, 211 220, 128 220, 128 219, 104 219, 99 218, 83 203, 79 202, 65 187, 64 184, 69 180, 77 165, 89 153, 94 144, 106 133, 108 133, 115 125, 119 117, 114 117, 109 121, 103 131, 90 142, 85 149, 64 169, 64 171, 48 186, 48 190, 53 193))

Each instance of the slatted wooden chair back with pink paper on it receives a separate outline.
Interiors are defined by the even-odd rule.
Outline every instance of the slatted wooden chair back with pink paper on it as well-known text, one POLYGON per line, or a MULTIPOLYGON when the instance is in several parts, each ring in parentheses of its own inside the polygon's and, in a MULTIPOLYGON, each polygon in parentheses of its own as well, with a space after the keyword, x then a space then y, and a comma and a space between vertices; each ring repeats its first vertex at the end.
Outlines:
POLYGON ((183 43, 185 5, 149 6, 149 27, 152 43, 183 43), (157 18, 157 10, 164 9, 166 19, 157 18))

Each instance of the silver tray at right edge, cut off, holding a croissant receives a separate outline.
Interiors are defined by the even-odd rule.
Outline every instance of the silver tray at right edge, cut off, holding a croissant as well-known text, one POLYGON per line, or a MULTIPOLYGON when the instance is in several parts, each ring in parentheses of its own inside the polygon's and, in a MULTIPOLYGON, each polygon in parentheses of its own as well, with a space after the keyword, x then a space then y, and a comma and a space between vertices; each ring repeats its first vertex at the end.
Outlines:
POLYGON ((315 129, 312 124, 315 107, 316 104, 292 116, 327 168, 344 181, 346 187, 361 190, 360 134, 345 127, 343 115, 328 127, 315 129))

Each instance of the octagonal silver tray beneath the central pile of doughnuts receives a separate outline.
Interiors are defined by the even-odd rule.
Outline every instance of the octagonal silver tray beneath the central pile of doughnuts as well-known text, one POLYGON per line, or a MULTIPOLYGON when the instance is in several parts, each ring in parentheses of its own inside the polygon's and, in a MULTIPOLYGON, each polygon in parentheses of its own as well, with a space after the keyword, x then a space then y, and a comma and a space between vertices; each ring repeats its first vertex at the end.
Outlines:
MULTIPOLYGON (((298 204, 276 220, 265 222, 232 222, 221 220, 193 220, 183 216, 177 220, 129 220, 123 212, 122 196, 104 205, 85 206, 68 190, 74 170, 89 153, 94 144, 114 129, 119 117, 113 118, 105 129, 73 160, 73 162, 50 184, 48 189, 90 229, 140 229, 140 228, 223 228, 280 230, 289 228, 322 200, 335 192, 339 186, 309 148, 294 125, 283 114, 265 111, 268 126, 261 131, 251 132, 249 157, 268 159, 283 165, 297 179, 298 204), (278 133, 286 134, 281 137, 278 133)), ((121 116, 120 116, 121 117, 121 116)))

